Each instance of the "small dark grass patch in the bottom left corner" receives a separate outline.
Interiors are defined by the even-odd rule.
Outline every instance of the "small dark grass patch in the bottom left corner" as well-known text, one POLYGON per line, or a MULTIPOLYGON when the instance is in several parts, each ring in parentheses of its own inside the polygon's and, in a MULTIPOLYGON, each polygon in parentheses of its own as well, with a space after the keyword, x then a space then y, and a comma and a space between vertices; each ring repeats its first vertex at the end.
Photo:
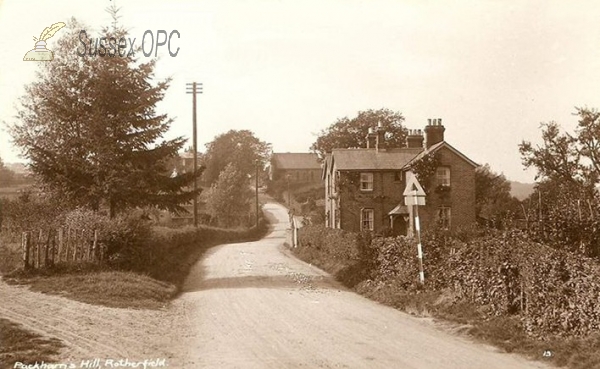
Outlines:
POLYGON ((55 338, 44 338, 0 318, 0 369, 14 368, 16 362, 52 362, 62 347, 63 344, 55 338))

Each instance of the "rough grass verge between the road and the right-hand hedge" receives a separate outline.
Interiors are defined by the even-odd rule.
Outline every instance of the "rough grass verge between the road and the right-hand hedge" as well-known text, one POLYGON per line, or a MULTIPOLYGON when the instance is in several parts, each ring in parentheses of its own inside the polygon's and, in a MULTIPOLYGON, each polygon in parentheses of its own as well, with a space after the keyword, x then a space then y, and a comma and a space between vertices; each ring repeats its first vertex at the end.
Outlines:
POLYGON ((457 299, 452 293, 407 292, 391 284, 373 283, 366 280, 365 271, 359 264, 332 262, 314 249, 292 250, 300 259, 327 271, 357 293, 411 315, 436 318, 452 333, 559 367, 600 368, 600 333, 585 338, 536 339, 525 333, 518 317, 490 319, 485 314, 485 307, 457 299))

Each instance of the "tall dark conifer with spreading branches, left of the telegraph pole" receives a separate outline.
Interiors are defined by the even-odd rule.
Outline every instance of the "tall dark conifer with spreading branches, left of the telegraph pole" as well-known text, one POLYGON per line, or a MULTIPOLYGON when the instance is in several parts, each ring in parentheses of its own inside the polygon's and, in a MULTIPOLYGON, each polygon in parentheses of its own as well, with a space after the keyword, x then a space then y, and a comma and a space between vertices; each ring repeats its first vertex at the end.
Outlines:
MULTIPOLYGON (((115 23, 99 37, 126 38, 116 13, 111 8, 115 23)), ((111 57, 106 50, 101 56, 102 48, 90 56, 98 39, 87 39, 82 29, 72 19, 53 46, 54 60, 39 63, 10 126, 15 143, 46 190, 71 205, 107 206, 111 216, 137 206, 182 210, 195 195, 186 190, 194 178, 171 178, 167 163, 185 140, 161 140, 172 120, 155 110, 170 80, 154 80, 155 60, 111 57), (80 39, 87 41, 84 56, 77 55, 80 39)))

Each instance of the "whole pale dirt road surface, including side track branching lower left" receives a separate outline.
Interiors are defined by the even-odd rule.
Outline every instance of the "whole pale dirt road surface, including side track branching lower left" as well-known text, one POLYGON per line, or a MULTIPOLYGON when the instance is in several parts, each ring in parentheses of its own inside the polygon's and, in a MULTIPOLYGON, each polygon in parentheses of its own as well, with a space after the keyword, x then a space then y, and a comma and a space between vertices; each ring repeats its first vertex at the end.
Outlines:
POLYGON ((345 290, 283 246, 286 210, 265 210, 269 235, 211 249, 167 309, 93 306, 0 282, 0 317, 62 340, 59 362, 76 368, 96 358, 176 369, 543 367, 345 290))

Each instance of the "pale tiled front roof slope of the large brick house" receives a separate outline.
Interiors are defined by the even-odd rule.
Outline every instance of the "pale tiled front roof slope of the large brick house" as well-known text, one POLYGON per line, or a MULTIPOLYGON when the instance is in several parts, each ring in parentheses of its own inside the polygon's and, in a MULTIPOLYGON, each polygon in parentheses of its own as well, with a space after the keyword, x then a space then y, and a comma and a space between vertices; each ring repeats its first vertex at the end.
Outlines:
POLYGON ((422 151, 422 148, 402 148, 389 151, 334 149, 332 158, 338 170, 400 170, 422 151))

